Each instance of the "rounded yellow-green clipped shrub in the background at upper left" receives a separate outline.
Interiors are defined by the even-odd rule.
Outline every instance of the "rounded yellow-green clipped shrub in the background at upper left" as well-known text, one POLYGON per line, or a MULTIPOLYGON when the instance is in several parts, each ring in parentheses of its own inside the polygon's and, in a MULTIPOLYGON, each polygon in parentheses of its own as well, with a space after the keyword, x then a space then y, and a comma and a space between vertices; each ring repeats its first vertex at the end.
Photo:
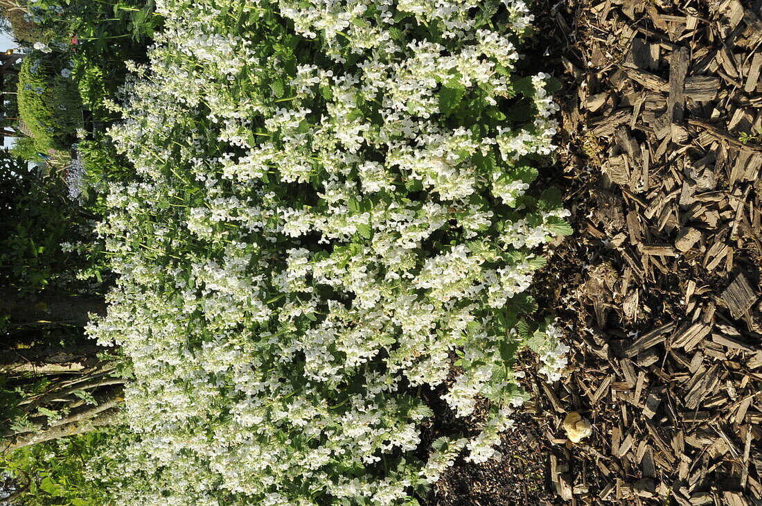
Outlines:
MULTIPOLYGON (((59 53, 33 51, 18 76, 18 110, 41 152, 68 150, 82 127, 82 103, 71 78, 62 75, 69 60, 59 53)), ((66 72, 65 72, 66 73, 66 72)))

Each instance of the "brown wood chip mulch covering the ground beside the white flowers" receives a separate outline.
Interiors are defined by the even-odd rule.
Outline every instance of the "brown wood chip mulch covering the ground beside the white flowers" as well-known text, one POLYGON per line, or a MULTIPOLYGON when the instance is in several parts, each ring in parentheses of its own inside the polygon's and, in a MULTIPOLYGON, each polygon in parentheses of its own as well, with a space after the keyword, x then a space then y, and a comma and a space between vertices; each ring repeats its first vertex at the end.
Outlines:
POLYGON ((762 1, 534 10, 564 82, 543 184, 575 227, 535 295, 572 351, 563 380, 527 374, 533 418, 501 451, 542 461, 544 489, 484 493, 539 478, 459 462, 431 504, 760 505, 762 1), (579 444, 571 411, 593 425, 579 444))

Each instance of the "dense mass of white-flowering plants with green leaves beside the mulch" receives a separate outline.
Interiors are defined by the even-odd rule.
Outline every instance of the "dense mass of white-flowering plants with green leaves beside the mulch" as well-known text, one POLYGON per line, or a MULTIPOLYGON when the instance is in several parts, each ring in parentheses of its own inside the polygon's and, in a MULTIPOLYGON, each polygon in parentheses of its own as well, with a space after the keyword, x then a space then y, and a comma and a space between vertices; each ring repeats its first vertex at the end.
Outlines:
POLYGON ((157 9, 164 32, 110 130, 139 181, 108 196, 98 231, 120 280, 89 329, 135 374, 139 438, 111 472, 140 482, 114 504, 402 504, 463 448, 486 460, 522 399, 504 353, 521 344, 529 248, 555 235, 507 217, 530 181, 493 187, 552 149, 544 75, 523 148, 507 152, 515 131, 490 119, 526 6, 157 9), (495 415, 422 467, 407 453, 431 411, 409 392, 442 384, 456 354, 443 399, 461 416, 489 399, 495 415))

